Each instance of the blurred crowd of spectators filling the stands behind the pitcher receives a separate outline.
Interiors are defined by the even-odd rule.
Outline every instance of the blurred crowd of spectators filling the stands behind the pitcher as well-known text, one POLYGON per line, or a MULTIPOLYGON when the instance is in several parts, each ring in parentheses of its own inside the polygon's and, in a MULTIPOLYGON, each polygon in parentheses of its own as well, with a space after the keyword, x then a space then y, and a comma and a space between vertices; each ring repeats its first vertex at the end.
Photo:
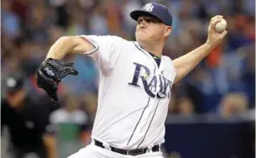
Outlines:
MULTIPOLYGON (((39 97, 34 73, 50 46, 62 35, 120 35, 134 40, 131 10, 149 0, 2 0, 2 98, 8 74, 23 74, 28 94, 39 97)), ((224 15, 229 34, 223 44, 174 85, 170 114, 219 113, 225 116, 255 106, 254 0, 166 0, 174 17, 164 54, 175 59, 207 38, 208 22, 224 15)), ((93 121, 97 106, 98 69, 88 56, 70 55, 77 77, 59 85, 61 106, 75 105, 93 121), (63 103, 62 103, 63 101, 63 103)), ((68 108, 70 109, 70 108, 68 108)), ((71 108, 72 109, 72 108, 71 108)))

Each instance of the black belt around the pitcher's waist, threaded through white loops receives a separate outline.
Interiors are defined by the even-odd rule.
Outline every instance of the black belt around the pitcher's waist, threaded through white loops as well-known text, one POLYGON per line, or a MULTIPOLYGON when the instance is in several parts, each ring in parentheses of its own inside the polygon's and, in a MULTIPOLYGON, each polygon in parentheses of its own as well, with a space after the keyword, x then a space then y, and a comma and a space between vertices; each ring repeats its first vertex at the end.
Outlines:
MULTIPOLYGON (((94 144, 96 146, 101 147, 101 148, 105 148, 103 146, 103 143, 99 142, 98 140, 94 139, 94 142, 95 142, 94 144)), ((112 152, 118 152, 118 153, 123 154, 123 155, 137 156, 137 155, 140 155, 140 154, 145 154, 149 148, 138 148, 138 149, 133 149, 133 150, 125 150, 125 149, 115 148, 115 147, 110 146, 110 149, 111 149, 112 152)), ((155 145, 155 146, 153 146, 153 148, 151 148, 151 150, 152 150, 152 152, 159 152, 160 151, 160 146, 155 145)))

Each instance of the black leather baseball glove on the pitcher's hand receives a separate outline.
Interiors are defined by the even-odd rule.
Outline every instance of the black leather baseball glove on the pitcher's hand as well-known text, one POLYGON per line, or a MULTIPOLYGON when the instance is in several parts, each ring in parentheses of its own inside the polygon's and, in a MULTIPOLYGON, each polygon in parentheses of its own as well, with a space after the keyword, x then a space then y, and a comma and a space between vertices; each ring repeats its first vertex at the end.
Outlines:
POLYGON ((39 88, 45 92, 55 101, 57 97, 57 85, 62 78, 67 75, 78 75, 78 72, 73 69, 73 63, 65 63, 61 60, 48 58, 40 64, 36 71, 36 83, 39 88))

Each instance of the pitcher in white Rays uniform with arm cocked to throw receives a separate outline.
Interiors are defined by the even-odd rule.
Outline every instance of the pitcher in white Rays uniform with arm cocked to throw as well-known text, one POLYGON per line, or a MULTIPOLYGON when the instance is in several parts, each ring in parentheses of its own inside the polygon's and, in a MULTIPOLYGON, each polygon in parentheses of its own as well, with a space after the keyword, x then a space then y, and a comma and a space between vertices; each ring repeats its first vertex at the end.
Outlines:
POLYGON ((227 31, 216 31, 223 19, 216 15, 208 26, 205 44, 171 60, 162 56, 172 31, 166 6, 148 3, 131 12, 137 21, 136 41, 113 35, 64 36, 48 51, 36 72, 37 85, 57 100, 57 85, 77 75, 67 53, 91 56, 99 65, 99 102, 91 143, 69 158, 163 157, 165 120, 174 83, 190 73, 215 48, 227 31))

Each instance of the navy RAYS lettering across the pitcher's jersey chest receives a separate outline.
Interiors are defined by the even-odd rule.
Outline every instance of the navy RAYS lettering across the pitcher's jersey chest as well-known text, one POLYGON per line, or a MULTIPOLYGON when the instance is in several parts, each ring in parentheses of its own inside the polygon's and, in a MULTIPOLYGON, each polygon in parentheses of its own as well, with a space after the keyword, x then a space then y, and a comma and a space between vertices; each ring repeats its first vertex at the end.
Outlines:
POLYGON ((149 79, 151 74, 150 69, 147 68, 145 65, 133 63, 136 65, 135 72, 133 74, 132 82, 128 83, 128 85, 133 85, 136 87, 141 87, 138 85, 139 80, 142 81, 143 87, 145 92, 152 98, 170 98, 170 89, 171 89, 171 81, 159 75, 158 77, 154 75, 152 78, 149 79), (142 69, 145 70, 145 75, 141 75, 142 69), (156 94, 157 91, 157 81, 160 82, 160 90, 156 94))

